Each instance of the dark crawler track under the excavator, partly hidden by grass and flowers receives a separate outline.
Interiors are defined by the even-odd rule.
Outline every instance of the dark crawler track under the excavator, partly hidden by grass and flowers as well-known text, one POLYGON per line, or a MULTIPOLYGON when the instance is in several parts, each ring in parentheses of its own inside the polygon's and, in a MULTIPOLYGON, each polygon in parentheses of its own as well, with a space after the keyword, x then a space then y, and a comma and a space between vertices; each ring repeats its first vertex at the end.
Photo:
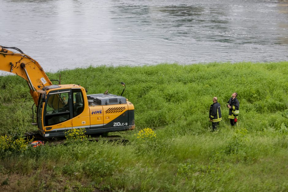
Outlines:
MULTIPOLYGON (((65 140, 66 140, 65 137, 44 138, 38 133, 38 131, 26 132, 23 136, 26 139, 30 139, 30 140, 33 138, 33 141, 44 141, 44 144, 48 144, 48 145, 65 144, 65 140)), ((120 137, 119 135, 102 136, 99 134, 89 135, 88 141, 98 142, 100 140, 100 138, 101 138, 101 141, 116 142, 118 144, 126 144, 129 142, 128 139, 120 137)))

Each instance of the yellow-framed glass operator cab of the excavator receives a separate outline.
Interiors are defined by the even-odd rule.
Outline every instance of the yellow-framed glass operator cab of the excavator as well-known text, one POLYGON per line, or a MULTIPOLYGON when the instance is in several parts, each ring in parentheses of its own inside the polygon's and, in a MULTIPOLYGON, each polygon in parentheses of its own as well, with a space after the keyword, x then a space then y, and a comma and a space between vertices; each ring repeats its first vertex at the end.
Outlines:
MULTIPOLYGON (((50 89, 40 95, 42 99, 38 100, 37 123, 44 136, 45 131, 57 130, 59 133, 60 130, 72 129, 72 119, 84 111, 85 104, 82 93, 84 88, 66 87, 59 86, 57 89, 50 89)), ((85 116, 87 115, 89 116, 89 112, 85 114, 85 116)))

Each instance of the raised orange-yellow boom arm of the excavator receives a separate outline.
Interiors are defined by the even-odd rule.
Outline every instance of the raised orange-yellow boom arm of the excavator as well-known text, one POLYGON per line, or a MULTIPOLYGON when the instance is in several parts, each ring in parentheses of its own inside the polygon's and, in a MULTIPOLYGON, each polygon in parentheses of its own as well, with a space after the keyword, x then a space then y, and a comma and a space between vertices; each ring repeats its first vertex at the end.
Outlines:
POLYGON ((52 85, 46 73, 37 61, 16 47, 0 46, 0 70, 14 73, 24 78, 30 88, 30 94, 36 106, 44 86, 52 85), (10 51, 17 50, 20 53, 10 51))

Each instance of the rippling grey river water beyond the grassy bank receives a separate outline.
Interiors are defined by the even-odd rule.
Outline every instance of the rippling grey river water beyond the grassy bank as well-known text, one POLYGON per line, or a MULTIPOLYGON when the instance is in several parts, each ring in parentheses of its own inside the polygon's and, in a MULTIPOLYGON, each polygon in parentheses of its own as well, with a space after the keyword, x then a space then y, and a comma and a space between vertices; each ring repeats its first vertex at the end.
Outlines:
POLYGON ((288 0, 1 0, 0 18, 45 71, 288 60, 288 0))

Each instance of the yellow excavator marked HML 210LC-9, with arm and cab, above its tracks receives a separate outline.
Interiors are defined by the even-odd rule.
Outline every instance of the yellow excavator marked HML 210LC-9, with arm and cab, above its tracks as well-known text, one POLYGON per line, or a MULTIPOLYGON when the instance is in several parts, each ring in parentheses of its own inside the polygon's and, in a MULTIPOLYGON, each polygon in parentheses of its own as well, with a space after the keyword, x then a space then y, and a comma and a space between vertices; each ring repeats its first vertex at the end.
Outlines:
POLYGON ((67 130, 79 128, 85 128, 85 134, 135 129, 134 105, 122 96, 125 88, 121 96, 107 91, 87 95, 80 85, 61 85, 60 81, 53 85, 55 80, 49 80, 39 63, 16 47, 0 46, 0 70, 27 81, 37 107, 37 123, 33 124, 44 138, 63 137, 67 130))

